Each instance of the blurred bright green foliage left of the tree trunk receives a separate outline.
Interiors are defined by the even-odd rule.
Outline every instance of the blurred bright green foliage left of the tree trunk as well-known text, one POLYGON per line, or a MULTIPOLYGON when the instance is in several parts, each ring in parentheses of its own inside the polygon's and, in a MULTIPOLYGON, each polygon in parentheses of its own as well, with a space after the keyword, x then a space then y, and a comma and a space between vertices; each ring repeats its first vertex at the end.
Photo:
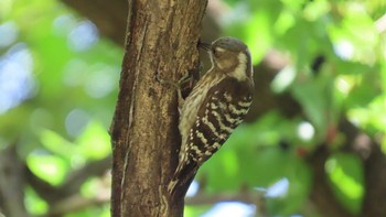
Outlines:
MULTIPOLYGON (((3 89, 13 97, 0 99, 0 148, 17 142, 30 170, 60 186, 73 170, 111 152, 107 129, 122 52, 99 39, 92 22, 56 1, 1 4, 0 34, 2 39, 14 35, 0 47, 0 86, 14 86, 3 89), (15 64, 21 68, 11 67, 15 64), (23 74, 12 79, 20 72, 23 74), (33 88, 24 101, 18 100, 17 94, 25 88, 23 80, 30 77, 33 88)), ((50 208, 30 187, 25 203, 35 215, 50 208)), ((69 216, 109 216, 108 206, 103 209, 94 207, 69 216)))

